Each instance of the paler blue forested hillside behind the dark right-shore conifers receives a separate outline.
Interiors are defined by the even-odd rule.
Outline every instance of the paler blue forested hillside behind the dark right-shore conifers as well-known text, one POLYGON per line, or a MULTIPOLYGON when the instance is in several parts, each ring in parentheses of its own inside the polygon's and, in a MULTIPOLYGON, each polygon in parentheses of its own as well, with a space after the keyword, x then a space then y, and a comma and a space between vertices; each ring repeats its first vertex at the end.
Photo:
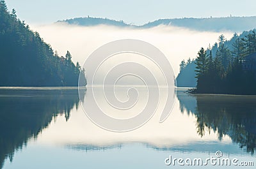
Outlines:
MULTIPOLYGON (((209 46, 205 49, 205 54, 207 56, 212 52, 212 58, 214 59, 216 55, 220 56, 223 62, 223 66, 227 68, 228 64, 232 62, 230 59, 233 59, 237 56, 235 54, 235 50, 239 50, 239 52, 243 52, 243 56, 248 55, 248 47, 246 47, 246 43, 248 43, 248 36, 250 36, 250 40, 252 39, 253 32, 256 30, 253 29, 251 31, 243 31, 241 34, 234 33, 234 36, 227 40, 223 34, 220 35, 219 41, 214 43, 214 45, 209 46), (246 42, 247 41, 247 42, 246 42), (239 48, 238 48, 239 46, 239 48), (243 50, 243 51, 242 51, 243 50)), ((253 40, 250 41, 250 47, 252 47, 253 40)), ((248 45, 248 44, 247 44, 248 45)), ((252 49, 251 53, 253 53, 252 49)), ((256 52, 256 51, 255 51, 256 52)), ((196 64, 195 61, 192 62, 182 62, 180 63, 180 73, 177 77, 177 85, 178 87, 196 87, 196 64)))

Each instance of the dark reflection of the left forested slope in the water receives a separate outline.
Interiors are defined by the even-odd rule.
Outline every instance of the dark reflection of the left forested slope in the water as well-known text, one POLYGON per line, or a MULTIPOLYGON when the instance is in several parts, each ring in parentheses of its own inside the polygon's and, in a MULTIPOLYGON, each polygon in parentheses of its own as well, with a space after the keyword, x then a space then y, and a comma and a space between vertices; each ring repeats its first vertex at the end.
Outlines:
POLYGON ((76 88, 0 89, 0 168, 4 159, 13 159, 16 150, 36 138, 57 115, 70 117, 79 105, 76 88))

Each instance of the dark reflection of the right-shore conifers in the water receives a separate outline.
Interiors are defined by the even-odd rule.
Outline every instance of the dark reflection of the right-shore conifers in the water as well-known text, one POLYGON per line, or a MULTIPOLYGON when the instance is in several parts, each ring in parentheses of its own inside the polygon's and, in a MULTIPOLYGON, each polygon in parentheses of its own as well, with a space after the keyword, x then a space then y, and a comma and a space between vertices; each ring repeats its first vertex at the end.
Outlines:
POLYGON ((230 96, 214 94, 189 95, 179 92, 181 112, 196 117, 196 131, 203 137, 205 132, 218 133, 221 141, 228 135, 246 152, 256 149, 256 96, 230 96))

